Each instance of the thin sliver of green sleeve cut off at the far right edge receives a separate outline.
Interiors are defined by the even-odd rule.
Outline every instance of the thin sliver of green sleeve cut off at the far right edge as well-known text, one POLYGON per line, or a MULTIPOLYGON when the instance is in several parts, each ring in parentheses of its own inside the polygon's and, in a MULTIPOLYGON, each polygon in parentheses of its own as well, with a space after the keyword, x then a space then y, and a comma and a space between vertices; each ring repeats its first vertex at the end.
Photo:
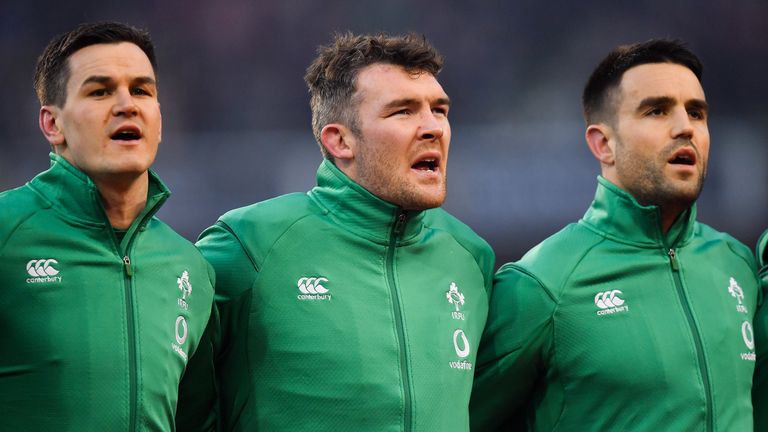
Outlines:
POLYGON ((754 319, 757 363, 752 385, 752 405, 755 430, 768 430, 768 231, 757 243, 757 262, 760 280, 757 313, 754 319))

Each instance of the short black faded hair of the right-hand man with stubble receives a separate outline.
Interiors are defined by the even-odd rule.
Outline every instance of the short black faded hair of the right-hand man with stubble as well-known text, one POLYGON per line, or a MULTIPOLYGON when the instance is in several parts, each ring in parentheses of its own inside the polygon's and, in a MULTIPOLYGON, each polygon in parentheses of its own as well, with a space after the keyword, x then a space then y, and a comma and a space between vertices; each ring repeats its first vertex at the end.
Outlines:
POLYGON ((673 63, 690 69, 701 81, 702 65, 696 54, 682 41, 651 39, 632 45, 621 45, 611 51, 595 68, 584 87, 582 105, 587 124, 612 121, 615 102, 613 93, 627 70, 648 63, 673 63))

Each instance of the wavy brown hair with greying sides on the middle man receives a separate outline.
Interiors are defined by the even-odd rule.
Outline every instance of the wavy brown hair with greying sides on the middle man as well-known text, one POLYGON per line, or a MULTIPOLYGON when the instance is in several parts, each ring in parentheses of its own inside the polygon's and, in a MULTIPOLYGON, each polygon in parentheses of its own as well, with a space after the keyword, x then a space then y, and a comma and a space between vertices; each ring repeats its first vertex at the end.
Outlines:
POLYGON ((320 141, 320 132, 329 123, 339 122, 359 135, 355 83, 361 69, 376 63, 404 67, 408 72, 440 73, 443 57, 424 36, 334 35, 331 44, 320 46, 317 57, 304 75, 309 87, 312 132, 326 159, 332 156, 320 141))

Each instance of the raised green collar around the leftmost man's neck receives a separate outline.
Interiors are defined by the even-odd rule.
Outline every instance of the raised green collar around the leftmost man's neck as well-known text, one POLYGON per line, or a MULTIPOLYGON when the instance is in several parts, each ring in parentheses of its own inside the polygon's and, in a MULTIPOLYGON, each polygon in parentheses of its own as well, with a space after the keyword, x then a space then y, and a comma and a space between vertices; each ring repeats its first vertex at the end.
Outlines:
MULTIPOLYGON (((65 218, 88 225, 109 225, 96 185, 84 172, 66 159, 50 154, 51 167, 38 174, 29 184, 65 218)), ((152 216, 170 196, 160 178, 149 171, 147 204, 131 224, 129 231, 142 220, 152 216)))

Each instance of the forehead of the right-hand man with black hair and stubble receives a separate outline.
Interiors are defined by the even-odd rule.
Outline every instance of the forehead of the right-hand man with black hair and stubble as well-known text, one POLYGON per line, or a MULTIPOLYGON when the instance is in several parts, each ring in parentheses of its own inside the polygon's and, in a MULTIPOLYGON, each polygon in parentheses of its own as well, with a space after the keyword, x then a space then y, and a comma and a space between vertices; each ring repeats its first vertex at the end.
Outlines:
POLYGON ((696 75, 674 63, 650 63, 624 72, 619 86, 622 103, 635 103, 647 97, 670 97, 685 102, 704 100, 704 89, 696 75))

